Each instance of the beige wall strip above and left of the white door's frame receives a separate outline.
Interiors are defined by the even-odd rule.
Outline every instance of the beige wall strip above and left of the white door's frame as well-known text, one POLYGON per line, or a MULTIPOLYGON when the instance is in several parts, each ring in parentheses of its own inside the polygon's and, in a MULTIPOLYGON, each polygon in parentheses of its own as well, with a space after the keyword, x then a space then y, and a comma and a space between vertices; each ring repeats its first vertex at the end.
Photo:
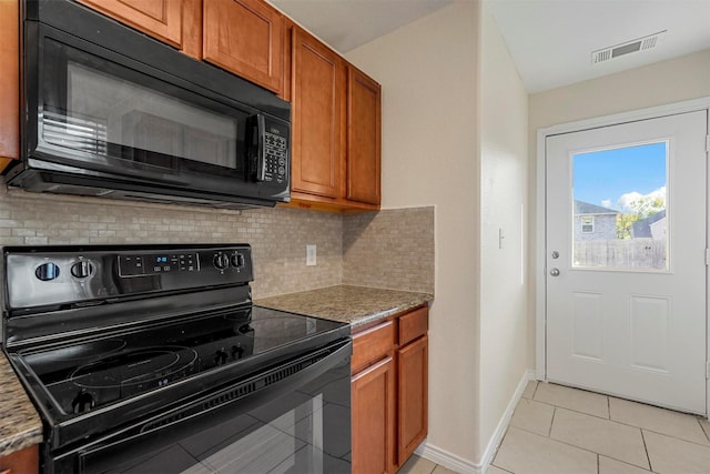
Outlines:
MULTIPOLYGON (((564 88, 531 94, 529 98, 530 169, 537 165, 537 130, 560 123, 655 105, 710 97, 710 50, 657 62, 564 88)), ((535 202, 536 173, 529 173, 528 201, 535 202)), ((531 209, 528 259, 534 272, 537 242, 537 215, 531 209)), ((530 289, 530 324, 528 341, 530 361, 535 361, 535 286, 530 289)))

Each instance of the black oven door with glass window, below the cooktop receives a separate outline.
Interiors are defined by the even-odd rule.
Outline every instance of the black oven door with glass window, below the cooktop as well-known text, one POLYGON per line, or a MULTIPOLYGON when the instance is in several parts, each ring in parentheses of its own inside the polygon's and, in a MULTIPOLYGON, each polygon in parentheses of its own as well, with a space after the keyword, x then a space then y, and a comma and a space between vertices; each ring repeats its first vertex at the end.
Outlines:
MULTIPOLYGON (((351 352, 347 342, 310 369, 216 410, 169 410, 59 456, 53 472, 349 473, 351 352)), ((226 400, 235 387, 219 393, 226 400)))

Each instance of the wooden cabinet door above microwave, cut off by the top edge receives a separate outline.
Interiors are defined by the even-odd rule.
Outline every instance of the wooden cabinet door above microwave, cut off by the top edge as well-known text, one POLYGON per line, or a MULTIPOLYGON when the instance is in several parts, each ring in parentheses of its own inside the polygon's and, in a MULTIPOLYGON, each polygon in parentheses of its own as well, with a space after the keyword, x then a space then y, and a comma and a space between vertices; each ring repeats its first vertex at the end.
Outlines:
POLYGON ((183 0, 79 0, 163 42, 182 49, 183 0))

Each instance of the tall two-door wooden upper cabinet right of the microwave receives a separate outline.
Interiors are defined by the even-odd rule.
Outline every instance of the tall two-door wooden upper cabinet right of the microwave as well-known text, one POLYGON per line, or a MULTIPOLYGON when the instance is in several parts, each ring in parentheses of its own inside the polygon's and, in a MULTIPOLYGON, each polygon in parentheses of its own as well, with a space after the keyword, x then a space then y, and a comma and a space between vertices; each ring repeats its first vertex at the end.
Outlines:
POLYGON ((292 206, 376 210, 382 89, 317 39, 292 28, 292 206))

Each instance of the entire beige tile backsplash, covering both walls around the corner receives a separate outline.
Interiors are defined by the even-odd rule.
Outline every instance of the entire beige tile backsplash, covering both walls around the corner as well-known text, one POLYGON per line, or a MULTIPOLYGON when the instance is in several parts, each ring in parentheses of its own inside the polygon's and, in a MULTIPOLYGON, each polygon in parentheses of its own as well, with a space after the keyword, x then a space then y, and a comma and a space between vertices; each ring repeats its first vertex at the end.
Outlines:
POLYGON ((341 283, 433 293, 434 211, 433 208, 425 209, 428 211, 396 210, 349 215, 286 208, 231 211, 34 194, 0 185, 0 244, 250 243, 255 265, 252 284, 255 297, 341 283), (399 213, 402 218, 397 219, 399 213), (427 223, 429 218, 430 225, 427 223), (412 222, 416 232, 410 232, 412 229, 405 229, 405 222, 410 219, 427 222, 412 222), (384 225, 379 228, 383 231, 402 229, 404 233, 375 239, 371 220, 384 225), (426 233, 423 229, 432 233, 430 239, 422 238, 426 233), (359 242, 361 238, 363 242, 359 242), (373 244, 367 243, 371 240, 373 244), (387 240, 405 248, 410 242, 409 251, 392 251, 385 245, 387 240), (317 248, 315 266, 305 265, 306 244, 317 248), (420 244, 430 245, 432 251, 418 252, 420 244), (359 262, 357 253, 353 253, 353 250, 357 252, 362 248, 369 249, 365 256, 375 259, 377 268, 402 270, 389 272, 384 279, 385 285, 379 283, 382 279, 371 281, 363 271, 365 262, 359 262), (430 272, 430 278, 413 278, 410 263, 400 265, 400 258, 415 260, 415 252, 416 255, 432 255, 432 265, 422 266, 422 270, 430 272), (348 265, 354 269, 347 272, 351 276, 345 281, 344 268, 348 265), (402 284, 393 278, 402 278, 402 284), (430 289, 424 288, 429 283, 430 289))

